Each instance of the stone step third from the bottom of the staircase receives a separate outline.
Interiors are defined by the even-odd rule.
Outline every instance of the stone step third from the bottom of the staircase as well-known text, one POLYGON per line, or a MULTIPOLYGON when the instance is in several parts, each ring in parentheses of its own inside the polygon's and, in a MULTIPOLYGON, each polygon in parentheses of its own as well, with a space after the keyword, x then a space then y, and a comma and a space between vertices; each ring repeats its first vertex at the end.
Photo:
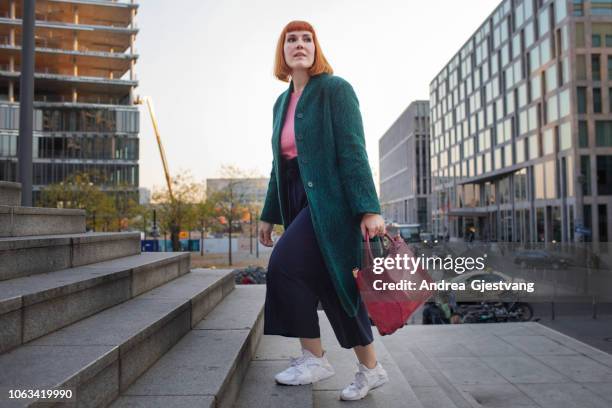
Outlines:
POLYGON ((188 253, 146 253, 0 282, 0 353, 189 272, 188 253))

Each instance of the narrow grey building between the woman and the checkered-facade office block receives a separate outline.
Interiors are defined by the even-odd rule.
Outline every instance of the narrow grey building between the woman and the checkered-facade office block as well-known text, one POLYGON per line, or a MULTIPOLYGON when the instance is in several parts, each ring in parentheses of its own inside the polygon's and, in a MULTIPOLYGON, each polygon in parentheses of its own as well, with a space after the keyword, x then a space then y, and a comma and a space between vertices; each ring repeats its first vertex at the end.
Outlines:
POLYGON ((380 138, 378 151, 383 217, 429 231, 429 102, 412 102, 380 138))

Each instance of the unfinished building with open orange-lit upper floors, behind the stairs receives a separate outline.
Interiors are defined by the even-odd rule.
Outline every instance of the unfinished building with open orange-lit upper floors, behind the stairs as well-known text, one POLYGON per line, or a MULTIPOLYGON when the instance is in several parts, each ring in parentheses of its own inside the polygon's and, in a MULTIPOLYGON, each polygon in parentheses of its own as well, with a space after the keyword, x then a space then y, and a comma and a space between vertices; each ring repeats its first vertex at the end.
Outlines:
MULTIPOLYGON (((36 2, 33 198, 89 173, 138 200, 134 1, 36 2)), ((15 180, 22 2, 0 1, 0 180, 15 180)))

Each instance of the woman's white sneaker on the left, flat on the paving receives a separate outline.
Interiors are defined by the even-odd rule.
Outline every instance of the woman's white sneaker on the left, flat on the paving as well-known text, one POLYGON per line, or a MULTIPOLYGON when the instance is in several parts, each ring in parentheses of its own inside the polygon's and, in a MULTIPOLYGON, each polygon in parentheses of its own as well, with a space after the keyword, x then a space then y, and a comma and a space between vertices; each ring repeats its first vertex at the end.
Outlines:
POLYGON ((317 357, 303 349, 302 357, 292 358, 289 368, 276 374, 274 378, 277 383, 283 385, 305 385, 324 380, 334 374, 334 368, 327 361, 325 354, 317 357))

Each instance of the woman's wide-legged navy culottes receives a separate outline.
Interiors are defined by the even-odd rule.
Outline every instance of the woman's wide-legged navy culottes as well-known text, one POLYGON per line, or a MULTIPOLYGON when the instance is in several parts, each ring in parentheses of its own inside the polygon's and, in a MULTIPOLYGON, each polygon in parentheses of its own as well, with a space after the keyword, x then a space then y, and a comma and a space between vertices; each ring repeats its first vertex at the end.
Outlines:
POLYGON ((340 304, 310 218, 297 159, 282 163, 289 226, 276 242, 266 275, 264 334, 318 338, 319 301, 340 345, 366 346, 373 340, 363 301, 356 317, 340 304))

